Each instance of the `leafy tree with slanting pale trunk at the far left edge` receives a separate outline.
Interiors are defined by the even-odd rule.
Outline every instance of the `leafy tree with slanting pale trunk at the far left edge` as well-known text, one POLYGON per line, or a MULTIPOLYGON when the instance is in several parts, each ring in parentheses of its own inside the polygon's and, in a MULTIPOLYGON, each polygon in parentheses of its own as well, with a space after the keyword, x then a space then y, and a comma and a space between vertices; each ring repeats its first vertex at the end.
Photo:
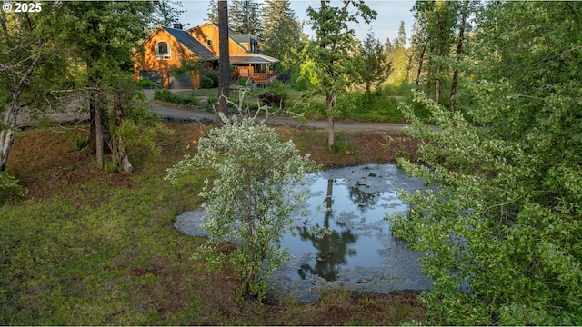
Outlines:
POLYGON ((0 171, 5 170, 17 122, 55 99, 54 86, 66 80, 66 48, 61 47, 61 5, 38 4, 35 12, 0 11, 0 171), (59 64, 61 63, 61 64, 59 64))

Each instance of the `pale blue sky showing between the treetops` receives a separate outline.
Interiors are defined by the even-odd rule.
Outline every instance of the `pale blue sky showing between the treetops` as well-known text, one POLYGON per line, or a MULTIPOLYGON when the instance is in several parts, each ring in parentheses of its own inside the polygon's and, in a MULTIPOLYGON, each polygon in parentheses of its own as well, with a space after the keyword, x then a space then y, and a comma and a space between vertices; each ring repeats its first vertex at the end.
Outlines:
MULTIPOLYGON (((258 2, 262 3, 263 1, 258 0, 258 2)), ((205 23, 208 3, 209 1, 207 0, 182 0, 182 9, 186 10, 186 13, 182 15, 180 23, 186 25, 186 28, 205 23)), ((332 1, 332 5, 334 3, 336 5, 339 4, 338 1, 332 1)), ((378 15, 376 16, 376 20, 371 22, 370 25, 360 23, 360 25, 353 26, 356 31, 356 37, 364 40, 366 34, 372 31, 376 38, 384 44, 386 38, 389 37, 390 40, 396 38, 400 21, 404 21, 406 38, 409 38, 414 23, 414 17, 410 9, 414 4, 414 0, 366 0, 366 5, 376 10, 378 15)), ((318 5, 319 1, 316 0, 291 0, 291 9, 295 11, 296 18, 299 21, 306 22, 307 8, 309 6, 317 8, 318 5)), ((305 25, 304 32, 307 35, 313 36, 310 25, 305 25)))

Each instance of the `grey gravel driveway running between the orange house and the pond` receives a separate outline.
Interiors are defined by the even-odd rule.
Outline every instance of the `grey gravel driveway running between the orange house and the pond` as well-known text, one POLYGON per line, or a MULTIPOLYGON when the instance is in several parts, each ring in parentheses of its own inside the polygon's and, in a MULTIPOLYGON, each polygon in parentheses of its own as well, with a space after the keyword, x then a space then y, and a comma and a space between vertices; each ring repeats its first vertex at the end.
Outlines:
MULTIPOLYGON (((160 101, 154 100, 153 90, 144 90, 147 99, 149 100, 150 109, 156 111, 162 116, 162 118, 176 121, 199 121, 199 120, 215 120, 216 114, 198 111, 195 109, 184 109, 178 105, 167 104, 160 101)), ((278 125, 294 125, 294 126, 305 126, 310 128, 327 128, 326 121, 309 121, 306 124, 297 123, 291 118, 275 116, 269 117, 267 123, 278 124, 278 125)), ((392 124, 392 123, 337 123, 335 124, 336 130, 345 131, 362 131, 362 132, 399 132, 402 127, 406 124, 392 124)))

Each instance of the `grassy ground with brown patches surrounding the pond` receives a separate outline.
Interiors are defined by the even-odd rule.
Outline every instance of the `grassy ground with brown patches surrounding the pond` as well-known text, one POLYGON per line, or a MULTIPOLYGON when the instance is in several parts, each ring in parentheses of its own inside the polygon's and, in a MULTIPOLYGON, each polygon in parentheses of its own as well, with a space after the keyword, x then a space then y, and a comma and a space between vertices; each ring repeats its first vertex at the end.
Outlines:
MULTIPOLYGON (((423 321, 409 292, 322 294, 319 302, 239 301, 236 272, 208 272, 191 260, 203 238, 178 233, 176 214, 195 209, 199 171, 180 186, 166 168, 205 134, 199 124, 167 124, 162 153, 132 149, 135 173, 105 173, 76 144, 88 126, 31 129, 17 134, 7 171, 31 198, 0 208, 2 325, 394 325, 423 321)), ((304 153, 326 166, 394 161, 382 134, 342 133, 342 149, 326 152, 326 131, 281 127, 304 153)), ((400 135, 411 154, 416 143, 400 135)), ((400 149, 401 151, 402 149, 400 149)))

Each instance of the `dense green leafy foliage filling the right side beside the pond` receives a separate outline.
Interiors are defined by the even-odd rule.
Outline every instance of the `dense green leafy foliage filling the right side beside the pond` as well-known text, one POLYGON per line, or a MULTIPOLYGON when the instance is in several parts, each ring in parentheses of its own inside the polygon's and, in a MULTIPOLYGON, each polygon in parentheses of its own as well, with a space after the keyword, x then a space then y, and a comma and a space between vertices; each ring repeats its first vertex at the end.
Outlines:
POLYGON ((582 322, 580 9, 487 6, 467 58, 472 105, 450 112, 416 94, 440 131, 403 106, 427 165, 399 164, 438 191, 404 195, 393 232, 426 253, 433 323, 582 322))

